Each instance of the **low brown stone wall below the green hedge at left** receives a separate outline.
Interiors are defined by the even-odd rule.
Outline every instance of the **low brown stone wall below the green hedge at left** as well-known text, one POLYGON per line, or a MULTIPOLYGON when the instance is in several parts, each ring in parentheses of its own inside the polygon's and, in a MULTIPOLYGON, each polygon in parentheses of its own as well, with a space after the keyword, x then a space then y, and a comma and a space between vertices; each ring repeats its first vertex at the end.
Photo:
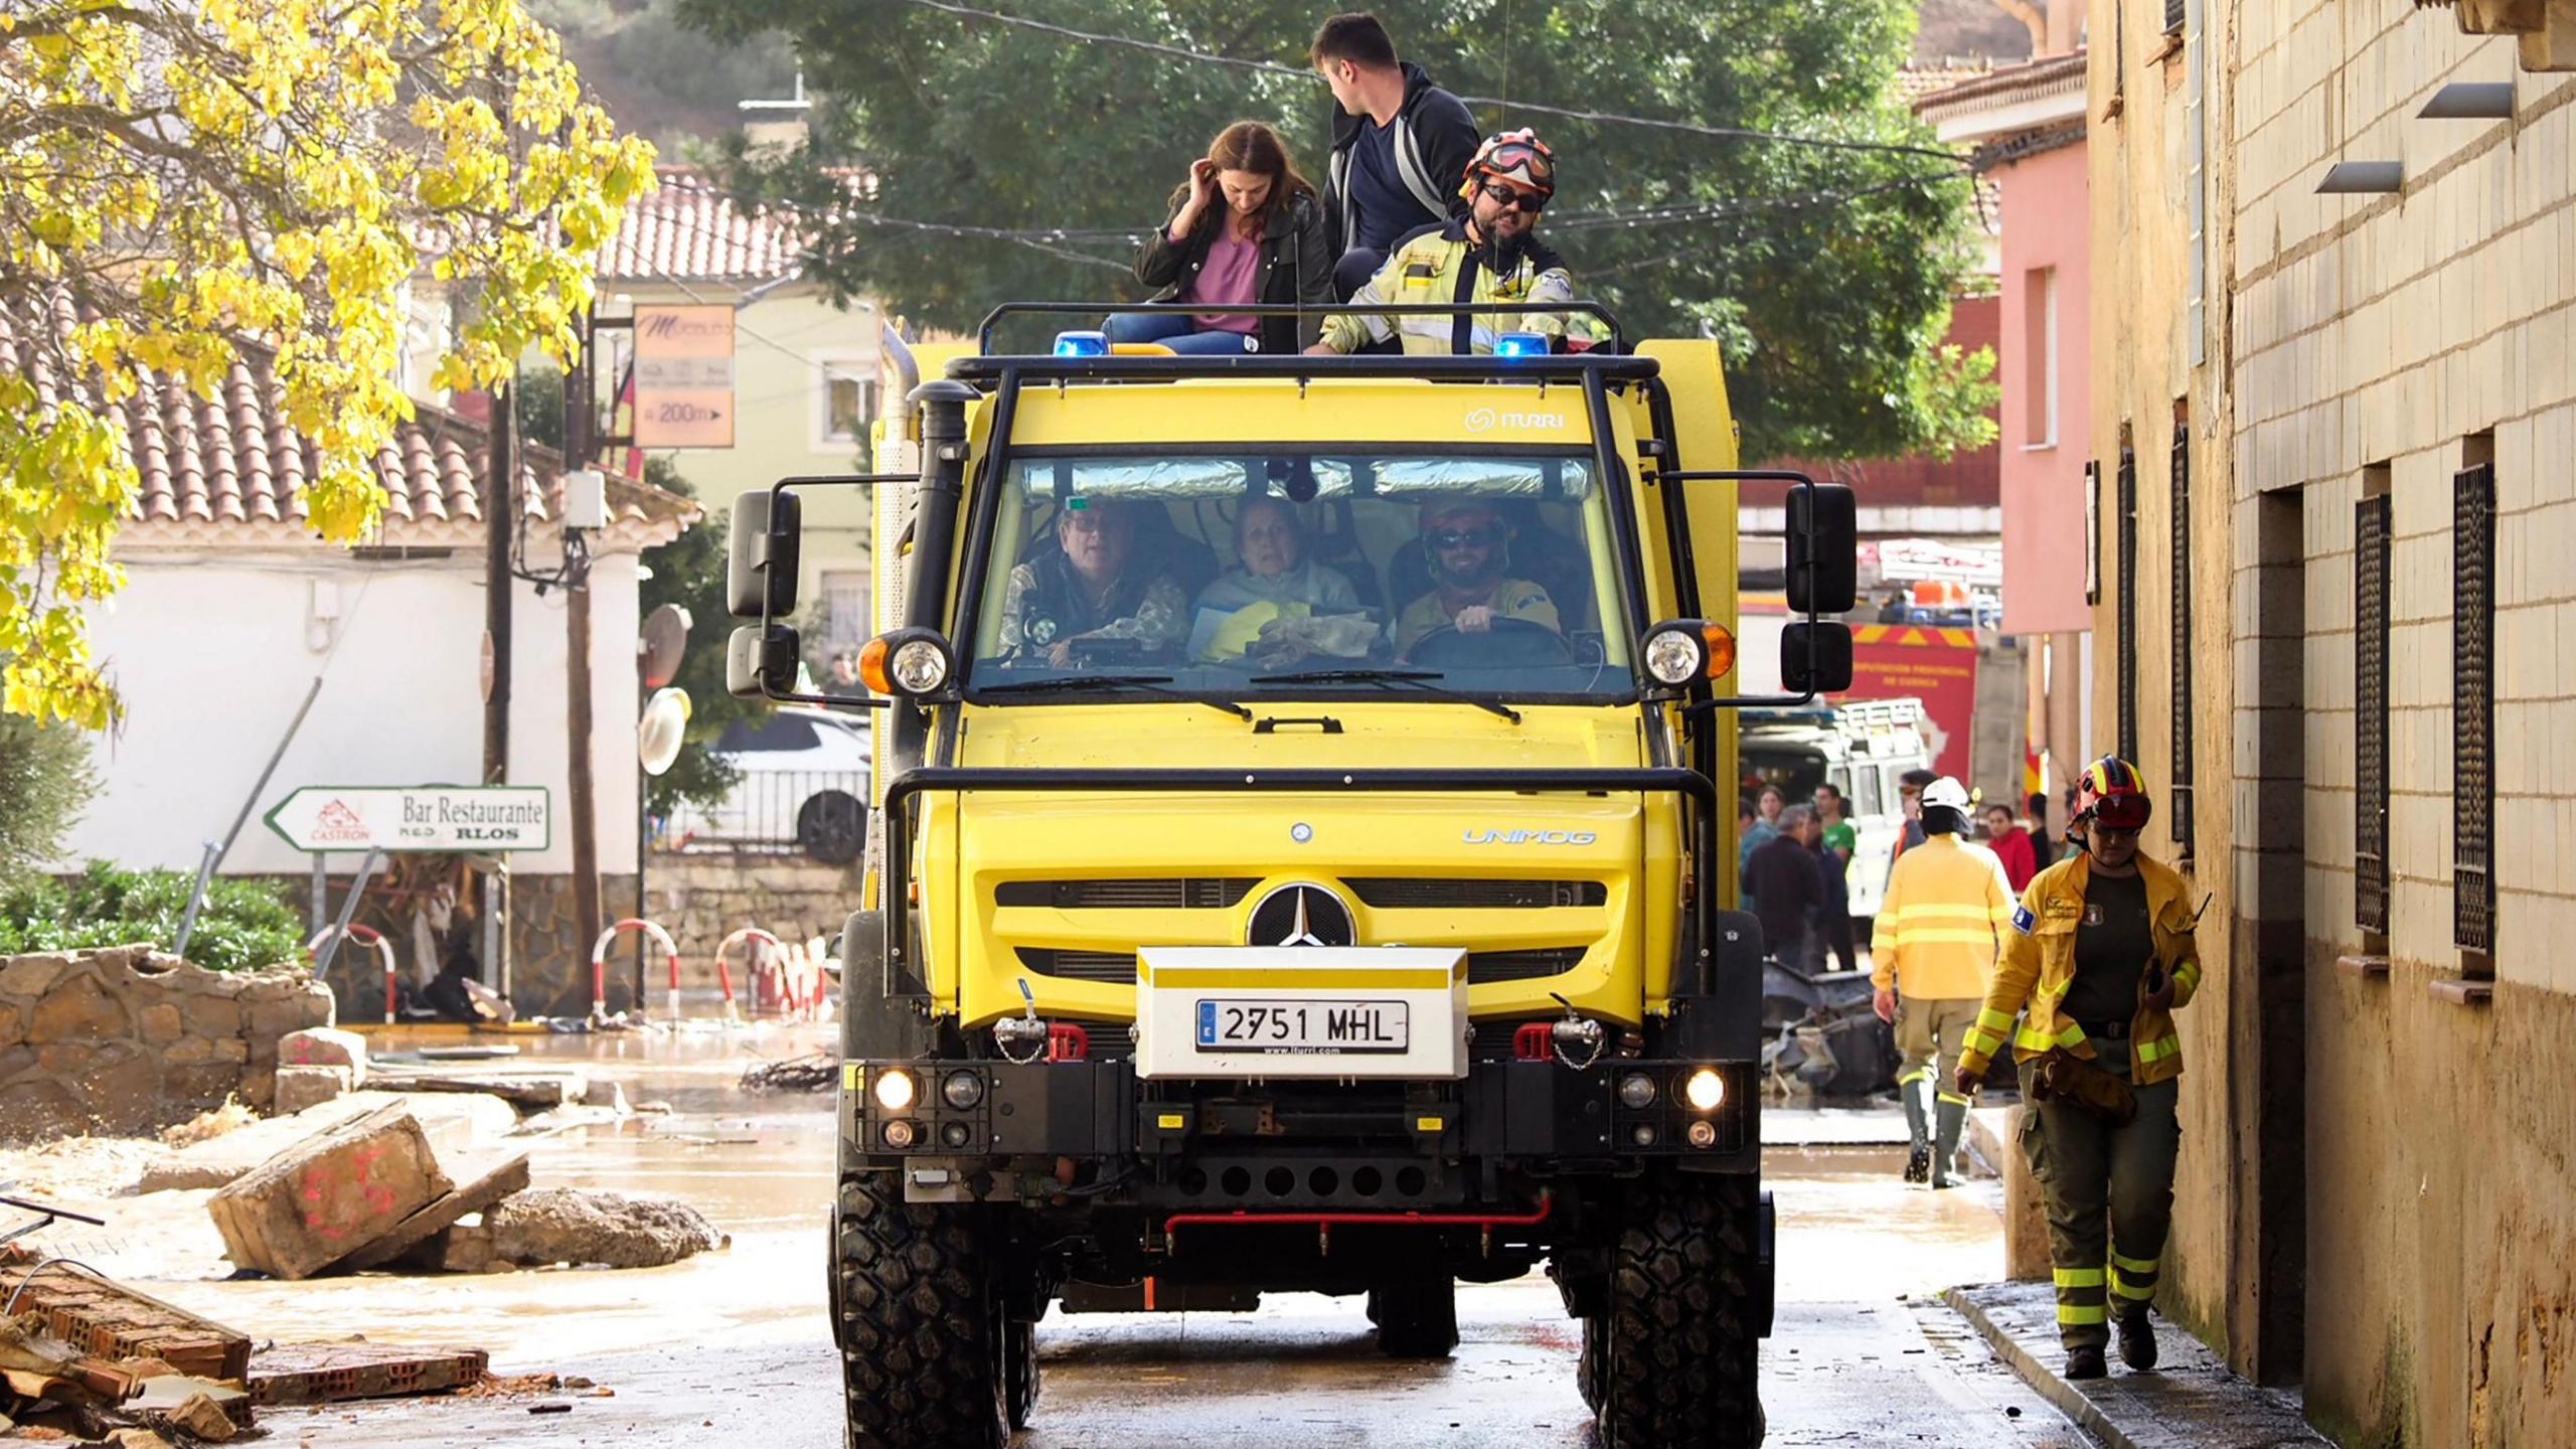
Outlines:
POLYGON ((227 1096, 265 1109, 278 1036, 330 1026, 294 967, 209 972, 152 946, 0 957, 0 1142, 134 1134, 227 1096))

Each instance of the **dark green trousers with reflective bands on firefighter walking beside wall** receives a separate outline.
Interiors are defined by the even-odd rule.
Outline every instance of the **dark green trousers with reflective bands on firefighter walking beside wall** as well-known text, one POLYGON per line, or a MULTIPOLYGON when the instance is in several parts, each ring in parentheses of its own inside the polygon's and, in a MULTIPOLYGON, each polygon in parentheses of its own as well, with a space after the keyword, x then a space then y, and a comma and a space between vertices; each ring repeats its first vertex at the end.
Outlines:
MULTIPOLYGON (((2130 1075, 2128 1042, 2102 1042, 2094 1065, 2130 1075)), ((2030 1104, 2035 1062, 2022 1062, 2030 1104)), ((2182 1083, 2138 1088, 2138 1116, 2112 1127, 2069 1101, 2022 1109, 2022 1155, 2048 1201, 2048 1256, 2058 1279, 2058 1338, 2069 1348, 2110 1343, 2115 1312, 2146 1312, 2156 1297, 2164 1238, 2174 1225, 2174 1116, 2182 1083)))

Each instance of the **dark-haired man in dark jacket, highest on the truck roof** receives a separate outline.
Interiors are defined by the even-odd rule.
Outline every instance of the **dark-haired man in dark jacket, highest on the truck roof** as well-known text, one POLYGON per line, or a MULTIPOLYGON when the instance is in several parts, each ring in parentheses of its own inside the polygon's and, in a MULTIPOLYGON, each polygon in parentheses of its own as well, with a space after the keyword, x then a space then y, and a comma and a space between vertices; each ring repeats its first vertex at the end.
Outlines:
POLYGON ((1350 302, 1399 240, 1466 209, 1458 178, 1476 155, 1476 116, 1419 64, 1399 62, 1365 10, 1324 21, 1306 54, 1332 88, 1324 217, 1342 258, 1332 294, 1350 302))

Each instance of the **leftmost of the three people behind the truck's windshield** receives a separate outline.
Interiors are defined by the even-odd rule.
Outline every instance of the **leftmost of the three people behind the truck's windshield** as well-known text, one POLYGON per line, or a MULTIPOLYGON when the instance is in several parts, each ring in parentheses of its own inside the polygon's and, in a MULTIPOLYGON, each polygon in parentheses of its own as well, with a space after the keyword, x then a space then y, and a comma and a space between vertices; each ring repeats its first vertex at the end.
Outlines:
POLYGON ((1190 632, 1190 601, 1172 575, 1136 557, 1136 505, 1072 498, 1056 511, 1056 547, 1010 570, 1002 655, 1069 668, 1082 642, 1118 639, 1159 655, 1190 632))

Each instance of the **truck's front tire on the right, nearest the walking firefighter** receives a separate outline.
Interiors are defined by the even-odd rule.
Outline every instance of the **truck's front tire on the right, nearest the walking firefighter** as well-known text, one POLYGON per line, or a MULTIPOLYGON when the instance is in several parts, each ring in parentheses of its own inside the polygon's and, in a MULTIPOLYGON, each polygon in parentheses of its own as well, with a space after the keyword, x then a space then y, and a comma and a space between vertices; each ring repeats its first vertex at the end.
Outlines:
POLYGON ((1610 1256, 1602 1449, 1762 1444, 1759 1186, 1649 1176, 1610 1256))

